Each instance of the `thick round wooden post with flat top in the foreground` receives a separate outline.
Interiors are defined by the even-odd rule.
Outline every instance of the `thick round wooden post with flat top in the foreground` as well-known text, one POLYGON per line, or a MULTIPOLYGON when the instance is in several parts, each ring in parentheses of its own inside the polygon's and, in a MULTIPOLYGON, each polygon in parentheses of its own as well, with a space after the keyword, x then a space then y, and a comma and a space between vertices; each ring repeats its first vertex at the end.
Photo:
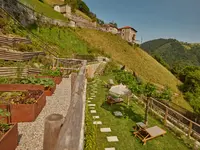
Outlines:
POLYGON ((63 116, 51 114, 45 119, 43 150, 55 150, 63 116))

